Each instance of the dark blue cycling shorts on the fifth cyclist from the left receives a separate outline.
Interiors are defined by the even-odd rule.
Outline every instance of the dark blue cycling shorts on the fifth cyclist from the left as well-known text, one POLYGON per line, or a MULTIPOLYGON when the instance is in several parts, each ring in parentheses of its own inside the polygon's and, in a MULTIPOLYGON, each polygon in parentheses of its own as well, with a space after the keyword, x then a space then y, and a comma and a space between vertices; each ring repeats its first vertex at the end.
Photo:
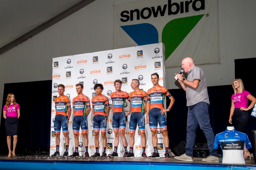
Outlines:
POLYGON ((130 133, 135 134, 137 123, 139 132, 145 133, 145 117, 143 112, 132 112, 130 118, 130 133))

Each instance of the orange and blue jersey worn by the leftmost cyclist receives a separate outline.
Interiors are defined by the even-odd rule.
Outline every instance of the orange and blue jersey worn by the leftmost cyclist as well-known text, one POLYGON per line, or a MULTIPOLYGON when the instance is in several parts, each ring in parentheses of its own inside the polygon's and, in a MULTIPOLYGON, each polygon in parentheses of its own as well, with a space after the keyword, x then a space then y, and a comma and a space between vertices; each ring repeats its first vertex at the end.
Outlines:
POLYGON ((67 116, 68 108, 71 107, 70 100, 67 96, 59 96, 55 98, 56 115, 67 116))

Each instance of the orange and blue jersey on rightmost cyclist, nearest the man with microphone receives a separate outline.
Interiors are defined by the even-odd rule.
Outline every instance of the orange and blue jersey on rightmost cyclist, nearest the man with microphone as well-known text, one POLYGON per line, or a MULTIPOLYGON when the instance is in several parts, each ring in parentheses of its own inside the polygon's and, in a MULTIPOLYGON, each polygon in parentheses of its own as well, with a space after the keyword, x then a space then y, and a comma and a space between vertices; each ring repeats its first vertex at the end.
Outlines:
POLYGON ((163 86, 156 86, 147 91, 148 99, 150 102, 150 109, 159 108, 164 109, 165 96, 170 98, 172 94, 169 93, 168 89, 163 86))

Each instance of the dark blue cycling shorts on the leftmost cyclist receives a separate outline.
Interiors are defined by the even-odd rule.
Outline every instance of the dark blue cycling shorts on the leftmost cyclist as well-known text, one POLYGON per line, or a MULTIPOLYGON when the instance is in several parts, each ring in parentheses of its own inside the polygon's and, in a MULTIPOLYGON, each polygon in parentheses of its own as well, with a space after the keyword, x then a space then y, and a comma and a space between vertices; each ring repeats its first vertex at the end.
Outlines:
POLYGON ((54 131, 56 134, 60 134, 61 126, 63 134, 68 134, 68 116, 60 114, 55 116, 54 131))

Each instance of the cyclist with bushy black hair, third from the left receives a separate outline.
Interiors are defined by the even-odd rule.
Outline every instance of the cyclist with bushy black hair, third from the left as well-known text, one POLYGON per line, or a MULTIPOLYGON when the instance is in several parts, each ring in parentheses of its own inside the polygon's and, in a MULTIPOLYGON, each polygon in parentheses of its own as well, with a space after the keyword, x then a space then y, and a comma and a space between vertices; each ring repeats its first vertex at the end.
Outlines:
POLYGON ((91 104, 93 106, 93 130, 94 130, 94 144, 96 152, 91 157, 100 157, 99 154, 99 131, 101 130, 101 137, 103 142, 103 152, 101 157, 106 158, 106 147, 107 147, 107 137, 106 137, 106 128, 107 128, 107 118, 109 116, 109 99, 108 97, 102 95, 103 85, 95 84, 94 90, 96 96, 91 99, 91 104))

